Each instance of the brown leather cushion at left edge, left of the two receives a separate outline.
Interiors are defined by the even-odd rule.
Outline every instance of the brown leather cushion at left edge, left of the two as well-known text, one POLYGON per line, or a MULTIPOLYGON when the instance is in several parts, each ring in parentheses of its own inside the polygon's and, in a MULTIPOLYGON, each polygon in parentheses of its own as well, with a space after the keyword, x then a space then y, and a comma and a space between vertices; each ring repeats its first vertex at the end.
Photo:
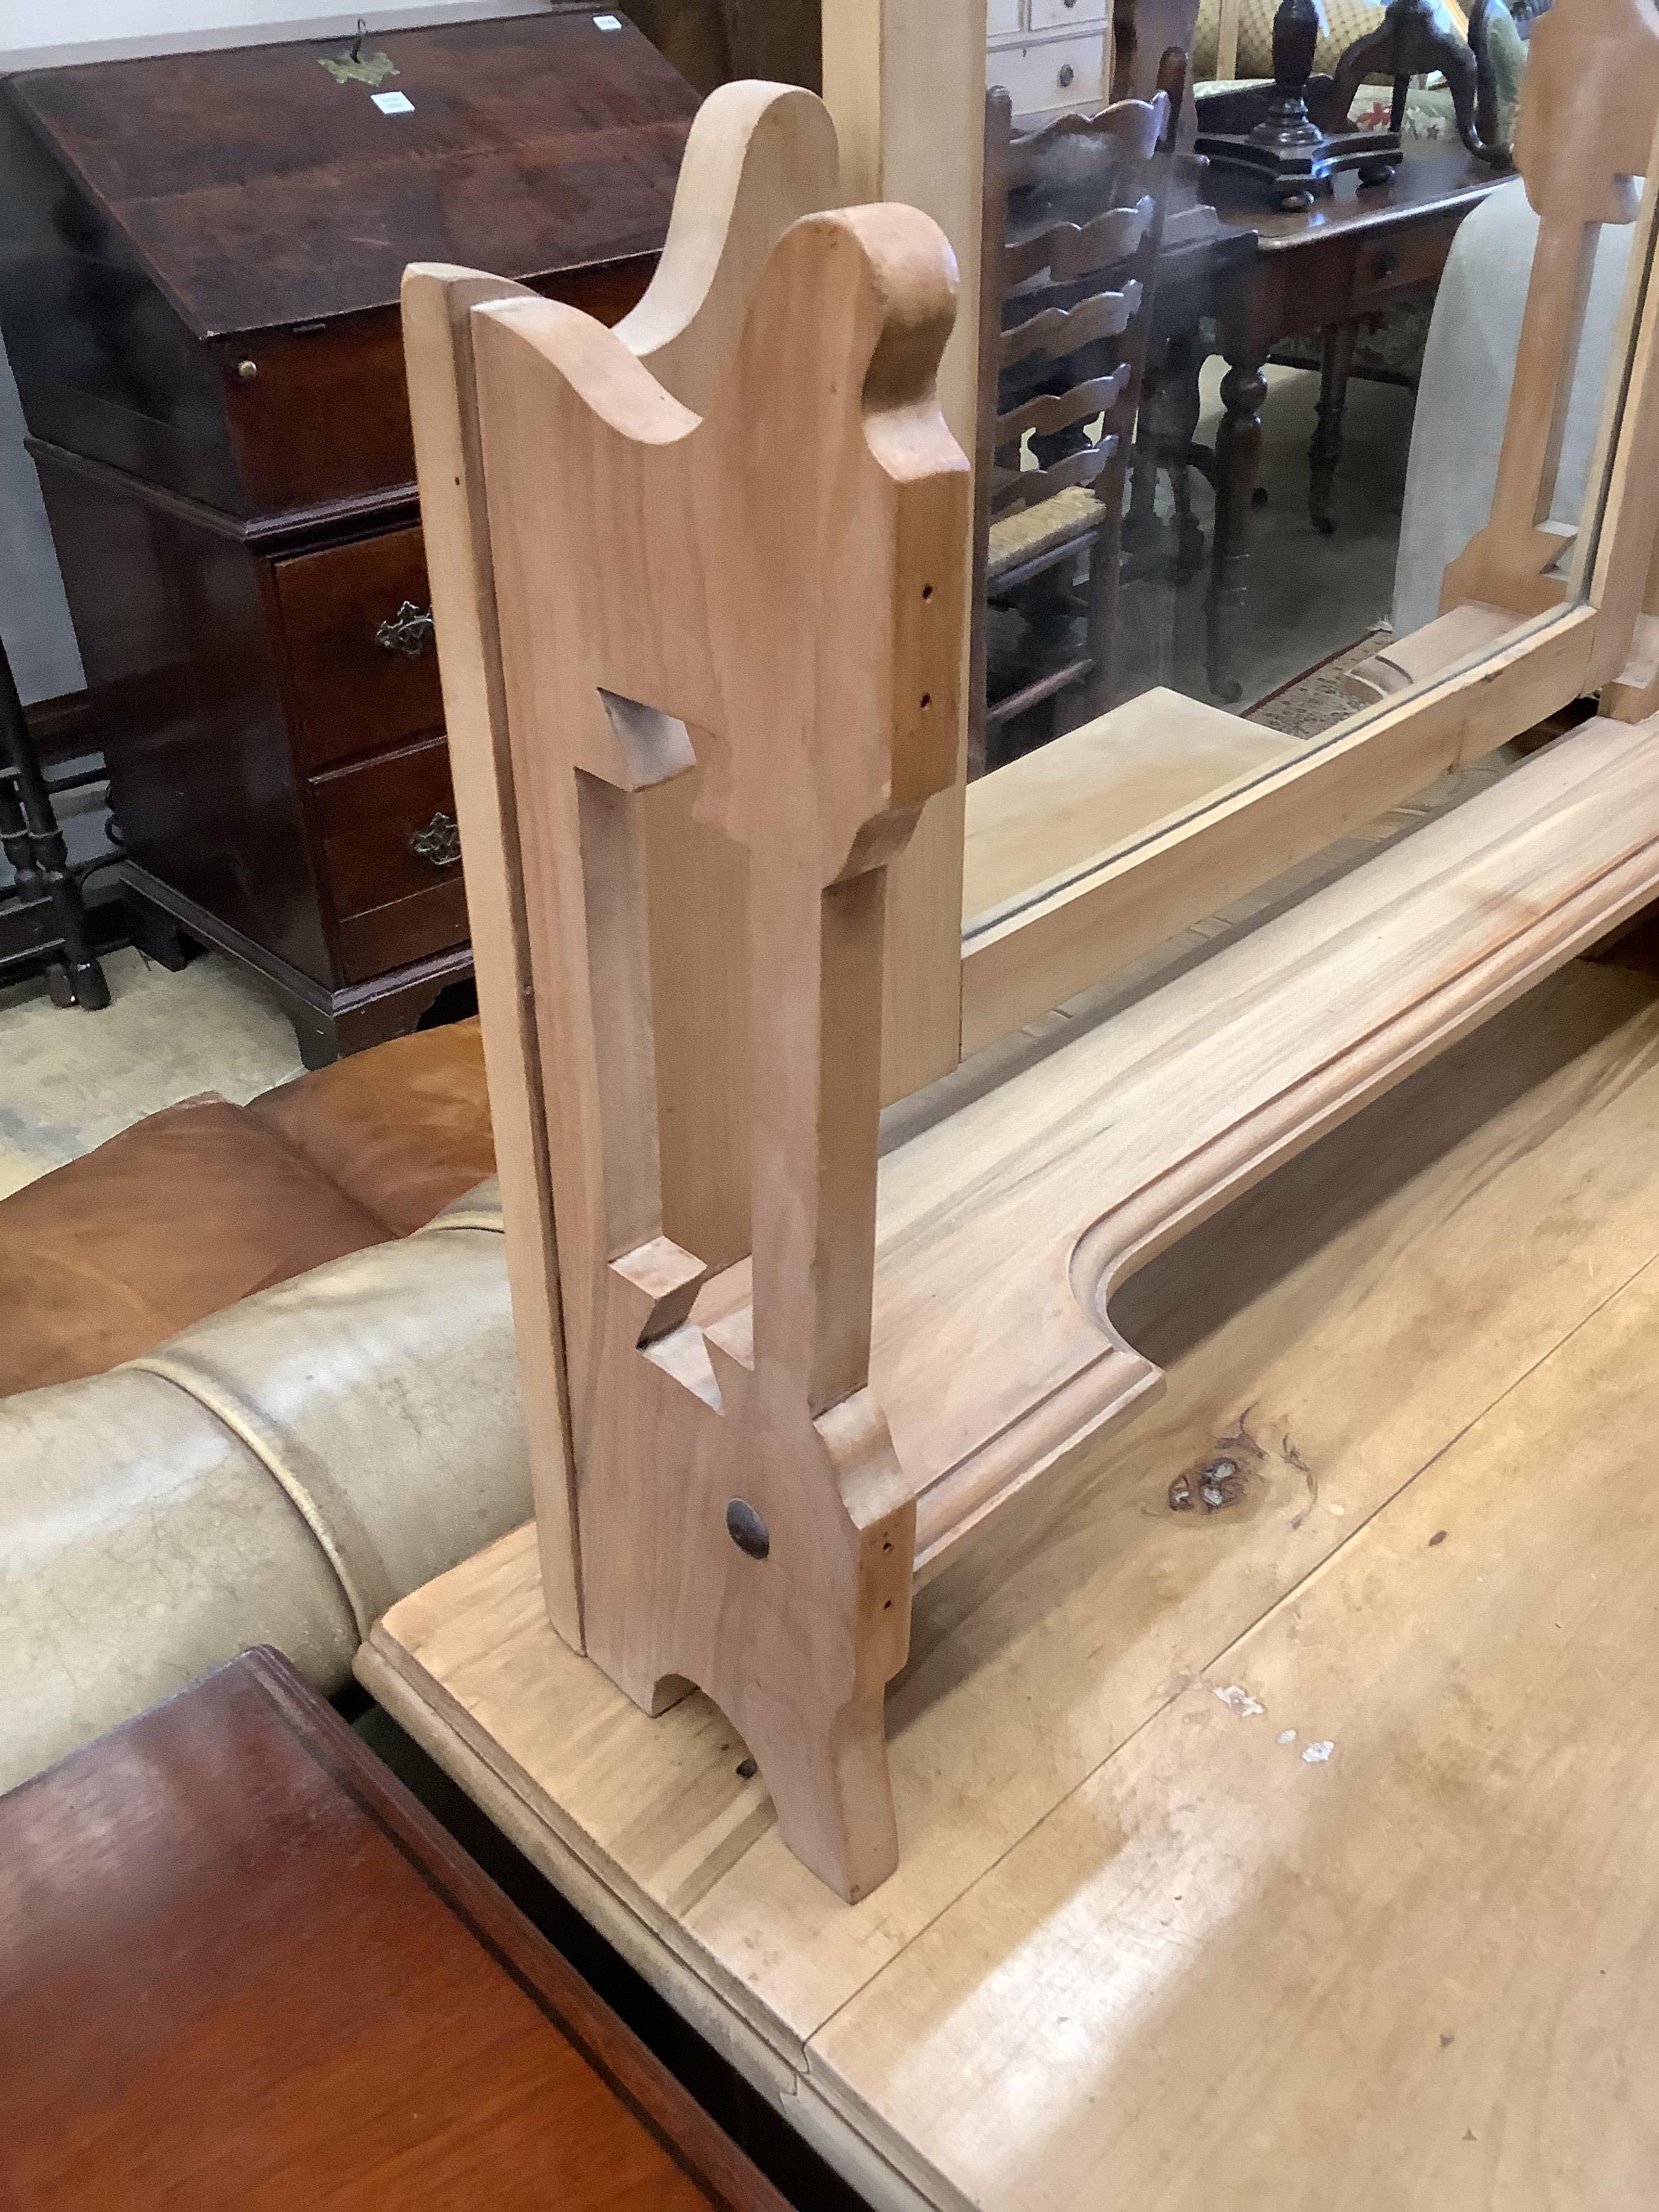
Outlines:
POLYGON ((246 1108, 168 1106, 0 1206, 0 1396, 100 1374, 389 1234, 246 1108))

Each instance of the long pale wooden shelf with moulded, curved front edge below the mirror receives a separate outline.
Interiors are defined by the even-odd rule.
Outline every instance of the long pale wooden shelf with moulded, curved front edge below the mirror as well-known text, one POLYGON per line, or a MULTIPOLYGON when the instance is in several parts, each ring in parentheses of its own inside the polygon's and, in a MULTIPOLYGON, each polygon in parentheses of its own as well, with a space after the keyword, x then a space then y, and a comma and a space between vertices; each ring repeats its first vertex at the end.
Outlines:
POLYGON ((1157 1398, 1108 1321, 1137 1267, 1655 894, 1655 726, 1586 723, 898 1144, 872 1387, 918 1579, 1157 1398))

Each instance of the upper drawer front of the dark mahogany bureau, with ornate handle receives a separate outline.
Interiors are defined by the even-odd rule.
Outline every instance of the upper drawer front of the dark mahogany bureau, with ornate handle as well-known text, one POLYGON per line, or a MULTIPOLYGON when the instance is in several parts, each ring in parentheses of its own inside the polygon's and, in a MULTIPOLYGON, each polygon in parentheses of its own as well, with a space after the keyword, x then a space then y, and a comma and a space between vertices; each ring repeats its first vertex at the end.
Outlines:
POLYGON ((294 757, 327 768, 442 728, 420 526, 272 568, 294 757))

